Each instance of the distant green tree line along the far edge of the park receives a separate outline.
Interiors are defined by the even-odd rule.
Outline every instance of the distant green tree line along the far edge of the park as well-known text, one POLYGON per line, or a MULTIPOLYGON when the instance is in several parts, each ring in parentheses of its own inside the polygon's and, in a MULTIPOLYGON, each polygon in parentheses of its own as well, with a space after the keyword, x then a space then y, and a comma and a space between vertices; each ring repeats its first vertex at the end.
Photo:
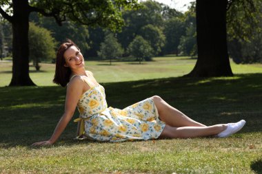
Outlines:
MULTIPOLYGON (((262 62, 262 6, 259 0, 232 1, 227 12, 228 52, 236 63, 262 62), (253 4, 253 6, 250 6, 253 4), (246 6, 250 6, 246 8, 246 6), (243 12, 245 9, 250 12, 243 12), (253 20, 245 15, 250 14, 253 20), (234 16, 238 16, 234 18, 234 16), (255 20, 254 20, 255 19, 255 20), (239 21, 241 24, 239 24, 239 21), (250 22, 251 21, 251 22, 250 22), (256 23, 256 25, 254 25, 256 23)), ((156 1, 143 1, 138 10, 123 12, 125 25, 120 32, 110 32, 99 27, 88 27, 73 21, 62 26, 48 17, 30 14, 30 60, 36 69, 39 62, 54 61, 55 49, 61 41, 72 39, 88 57, 110 60, 134 57, 150 61, 152 56, 175 54, 197 56, 196 3, 188 11, 179 12, 156 1)), ((0 58, 12 56, 12 28, 7 21, 0 21, 0 58)))

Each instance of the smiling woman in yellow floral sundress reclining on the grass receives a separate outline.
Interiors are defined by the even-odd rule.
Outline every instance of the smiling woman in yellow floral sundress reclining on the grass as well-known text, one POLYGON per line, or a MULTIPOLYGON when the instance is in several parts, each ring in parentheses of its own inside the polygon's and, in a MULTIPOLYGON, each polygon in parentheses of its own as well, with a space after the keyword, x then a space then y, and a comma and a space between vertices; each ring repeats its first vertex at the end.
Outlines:
POLYGON ((159 96, 152 96, 125 109, 107 106, 104 88, 92 72, 85 71, 83 55, 72 41, 62 43, 57 52, 54 83, 67 85, 63 116, 50 140, 33 146, 53 144, 59 138, 77 107, 80 113, 77 139, 120 142, 157 138, 195 138, 216 135, 228 137, 239 131, 245 120, 216 124, 210 127, 196 122, 168 105, 159 96))

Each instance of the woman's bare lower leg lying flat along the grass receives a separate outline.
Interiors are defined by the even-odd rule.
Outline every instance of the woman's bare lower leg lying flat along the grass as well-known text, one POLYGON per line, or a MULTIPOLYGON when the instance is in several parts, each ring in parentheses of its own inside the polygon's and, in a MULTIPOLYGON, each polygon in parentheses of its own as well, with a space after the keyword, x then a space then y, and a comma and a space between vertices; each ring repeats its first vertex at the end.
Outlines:
POLYGON ((227 128, 226 124, 216 124, 210 127, 171 127, 165 125, 159 138, 196 138, 217 135, 227 128))

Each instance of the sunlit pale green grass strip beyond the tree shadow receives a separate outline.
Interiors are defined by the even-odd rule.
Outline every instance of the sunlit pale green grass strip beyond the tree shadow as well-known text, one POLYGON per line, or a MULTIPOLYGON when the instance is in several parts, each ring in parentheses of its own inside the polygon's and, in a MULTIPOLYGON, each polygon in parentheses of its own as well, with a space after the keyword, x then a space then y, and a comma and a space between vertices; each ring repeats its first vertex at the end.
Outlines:
MULTIPOLYGON (((188 74, 194 67, 196 59, 188 57, 156 57, 154 61, 142 62, 113 62, 85 61, 85 68, 94 73, 100 83, 122 82, 154 78, 178 77, 188 74)), ((39 86, 54 86, 54 64, 41 63, 41 71, 36 72, 30 66, 30 77, 39 86)), ((236 65, 231 62, 235 74, 262 73, 261 64, 236 65)), ((0 87, 9 85, 12 78, 12 63, 0 61, 0 87)))

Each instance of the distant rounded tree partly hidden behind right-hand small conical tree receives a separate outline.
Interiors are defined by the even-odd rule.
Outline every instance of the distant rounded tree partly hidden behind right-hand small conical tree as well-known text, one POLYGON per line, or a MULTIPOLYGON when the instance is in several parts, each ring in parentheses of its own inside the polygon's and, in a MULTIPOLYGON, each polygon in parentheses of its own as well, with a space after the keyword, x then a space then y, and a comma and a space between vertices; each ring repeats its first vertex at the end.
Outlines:
POLYGON ((145 41, 150 43, 150 46, 153 49, 153 55, 157 56, 165 44, 165 35, 163 34, 161 28, 157 28, 152 24, 148 24, 141 28, 140 35, 143 37, 143 39, 145 39, 145 41))

